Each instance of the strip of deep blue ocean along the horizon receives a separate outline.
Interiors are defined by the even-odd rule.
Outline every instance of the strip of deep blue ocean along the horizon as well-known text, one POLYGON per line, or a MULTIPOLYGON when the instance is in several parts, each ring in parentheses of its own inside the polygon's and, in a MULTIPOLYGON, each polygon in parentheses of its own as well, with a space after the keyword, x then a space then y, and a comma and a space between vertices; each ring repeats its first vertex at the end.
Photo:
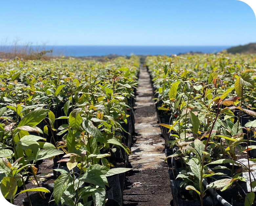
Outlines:
MULTIPOLYGON (((0 46, 1 50, 12 46, 0 46)), ((22 46, 18 46, 22 47, 22 46)), ((126 55, 171 55, 186 52, 214 53, 231 46, 30 46, 34 50, 51 50, 60 56, 105 56, 110 54, 126 55)))

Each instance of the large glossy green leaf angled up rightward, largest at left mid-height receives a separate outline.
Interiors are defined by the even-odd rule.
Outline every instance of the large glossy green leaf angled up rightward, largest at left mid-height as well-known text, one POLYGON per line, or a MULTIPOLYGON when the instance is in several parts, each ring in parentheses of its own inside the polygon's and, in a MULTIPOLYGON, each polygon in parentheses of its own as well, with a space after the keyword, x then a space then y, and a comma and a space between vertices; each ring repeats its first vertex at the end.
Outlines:
POLYGON ((38 125, 47 116, 48 111, 49 110, 39 109, 26 114, 21 119, 18 127, 21 127, 24 125, 34 127, 38 125))

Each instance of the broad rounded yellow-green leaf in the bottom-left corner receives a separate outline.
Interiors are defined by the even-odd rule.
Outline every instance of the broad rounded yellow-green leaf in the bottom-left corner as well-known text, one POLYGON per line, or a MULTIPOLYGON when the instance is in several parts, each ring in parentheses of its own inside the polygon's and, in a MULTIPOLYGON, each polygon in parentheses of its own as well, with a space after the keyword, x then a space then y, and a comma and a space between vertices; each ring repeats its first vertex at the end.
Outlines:
POLYGON ((17 192, 17 180, 14 177, 3 177, 0 189, 2 192, 2 195, 6 199, 12 199, 14 198, 16 192, 17 192))

